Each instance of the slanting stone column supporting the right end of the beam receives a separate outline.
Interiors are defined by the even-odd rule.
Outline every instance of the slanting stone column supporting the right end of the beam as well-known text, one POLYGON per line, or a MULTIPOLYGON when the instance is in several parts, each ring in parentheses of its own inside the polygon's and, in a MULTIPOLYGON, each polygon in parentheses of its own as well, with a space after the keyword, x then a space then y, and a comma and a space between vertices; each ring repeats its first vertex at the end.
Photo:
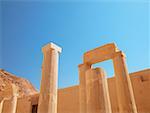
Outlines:
POLYGON ((119 113, 137 113, 131 80, 125 64, 125 55, 116 53, 113 58, 119 113))

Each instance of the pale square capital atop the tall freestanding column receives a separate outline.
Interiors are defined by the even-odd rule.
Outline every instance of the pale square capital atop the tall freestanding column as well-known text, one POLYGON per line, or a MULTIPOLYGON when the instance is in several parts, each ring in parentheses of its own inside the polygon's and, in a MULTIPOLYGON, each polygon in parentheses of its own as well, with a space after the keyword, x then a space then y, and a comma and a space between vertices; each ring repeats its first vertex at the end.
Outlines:
POLYGON ((46 52, 46 51, 50 51, 50 50, 56 50, 58 51, 59 53, 61 53, 62 51, 62 48, 57 46, 56 44, 54 43, 48 43, 47 45, 45 45, 44 47, 42 47, 42 52, 46 52))

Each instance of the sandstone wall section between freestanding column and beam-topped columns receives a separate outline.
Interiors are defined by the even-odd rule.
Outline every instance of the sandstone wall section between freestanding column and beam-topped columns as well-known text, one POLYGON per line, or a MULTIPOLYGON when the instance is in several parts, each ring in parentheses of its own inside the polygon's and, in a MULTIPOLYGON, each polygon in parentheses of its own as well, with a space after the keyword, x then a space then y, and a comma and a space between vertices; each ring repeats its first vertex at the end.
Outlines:
POLYGON ((58 113, 79 113, 79 86, 59 89, 58 113))

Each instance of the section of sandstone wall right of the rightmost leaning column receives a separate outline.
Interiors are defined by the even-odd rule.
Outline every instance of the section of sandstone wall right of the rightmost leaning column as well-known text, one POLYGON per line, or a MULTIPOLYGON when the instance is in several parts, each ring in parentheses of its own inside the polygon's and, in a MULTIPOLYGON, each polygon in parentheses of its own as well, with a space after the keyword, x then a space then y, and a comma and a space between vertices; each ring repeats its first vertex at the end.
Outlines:
POLYGON ((150 69, 131 74, 139 113, 150 113, 150 69))

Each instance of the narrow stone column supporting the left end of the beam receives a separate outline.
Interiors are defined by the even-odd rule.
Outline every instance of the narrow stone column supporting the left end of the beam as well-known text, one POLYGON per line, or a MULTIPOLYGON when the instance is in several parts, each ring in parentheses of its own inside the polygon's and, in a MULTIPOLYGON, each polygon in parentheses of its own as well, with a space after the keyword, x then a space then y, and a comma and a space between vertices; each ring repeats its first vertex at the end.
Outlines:
POLYGON ((86 79, 85 74, 91 68, 89 64, 80 64, 79 68, 79 111, 86 113, 86 79))

